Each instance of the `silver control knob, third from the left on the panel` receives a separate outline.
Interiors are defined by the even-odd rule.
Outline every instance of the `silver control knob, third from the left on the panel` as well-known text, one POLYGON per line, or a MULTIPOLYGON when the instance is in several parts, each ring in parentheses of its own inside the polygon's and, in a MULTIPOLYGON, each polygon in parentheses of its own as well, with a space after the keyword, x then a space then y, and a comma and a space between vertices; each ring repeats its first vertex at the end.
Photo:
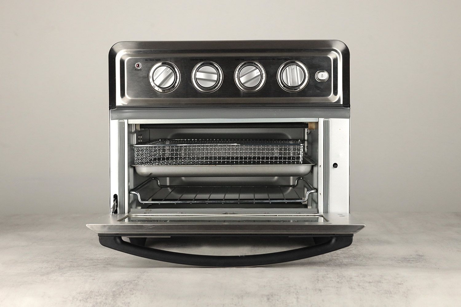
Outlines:
POLYGON ((247 61, 237 66, 234 79, 242 91, 256 92, 266 82, 266 71, 258 62, 247 61))

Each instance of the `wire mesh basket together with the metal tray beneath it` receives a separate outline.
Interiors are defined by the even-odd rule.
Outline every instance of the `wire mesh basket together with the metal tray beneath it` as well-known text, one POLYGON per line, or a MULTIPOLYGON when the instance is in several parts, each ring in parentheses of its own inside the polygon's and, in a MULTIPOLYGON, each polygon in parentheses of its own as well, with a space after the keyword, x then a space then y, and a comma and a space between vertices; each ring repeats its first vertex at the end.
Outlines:
POLYGON ((299 139, 158 139, 134 145, 136 172, 161 176, 303 176, 299 139))

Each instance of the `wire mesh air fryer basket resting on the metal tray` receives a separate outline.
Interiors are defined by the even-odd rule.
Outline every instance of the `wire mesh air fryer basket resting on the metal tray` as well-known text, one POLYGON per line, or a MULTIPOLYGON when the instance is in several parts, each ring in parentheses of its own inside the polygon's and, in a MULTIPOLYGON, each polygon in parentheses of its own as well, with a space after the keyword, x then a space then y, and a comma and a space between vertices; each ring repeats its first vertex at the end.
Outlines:
POLYGON ((158 139, 134 145, 135 165, 301 164, 299 139, 158 139))

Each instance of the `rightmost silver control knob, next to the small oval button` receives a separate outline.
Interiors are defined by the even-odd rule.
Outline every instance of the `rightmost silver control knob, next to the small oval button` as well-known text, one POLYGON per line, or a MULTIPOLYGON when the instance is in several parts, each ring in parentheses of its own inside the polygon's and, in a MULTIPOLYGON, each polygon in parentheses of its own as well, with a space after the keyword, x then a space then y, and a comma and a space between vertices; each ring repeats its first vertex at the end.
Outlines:
POLYGON ((277 81, 285 91, 299 92, 309 81, 309 71, 306 65, 299 61, 287 61, 279 67, 277 81))

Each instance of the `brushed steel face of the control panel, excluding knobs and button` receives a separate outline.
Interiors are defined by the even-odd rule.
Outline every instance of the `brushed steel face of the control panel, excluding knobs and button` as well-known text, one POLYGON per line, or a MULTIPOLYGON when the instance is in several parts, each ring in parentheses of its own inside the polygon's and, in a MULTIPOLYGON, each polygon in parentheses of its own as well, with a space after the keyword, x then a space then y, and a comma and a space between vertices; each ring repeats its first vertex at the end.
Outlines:
POLYGON ((181 41, 120 42, 109 55, 109 101, 117 106, 312 105, 349 106, 349 50, 340 41, 181 41), (325 70, 325 82, 309 81, 298 92, 288 92, 277 80, 278 68, 296 60, 306 64, 309 75, 325 70), (148 70, 160 62, 174 63, 181 75, 191 75, 202 61, 218 64, 223 72, 219 90, 207 93, 193 82, 181 82, 165 95, 149 86, 148 70), (266 81, 257 92, 242 91, 235 82, 242 62, 260 63, 266 81), (135 64, 141 63, 141 69, 135 64))

